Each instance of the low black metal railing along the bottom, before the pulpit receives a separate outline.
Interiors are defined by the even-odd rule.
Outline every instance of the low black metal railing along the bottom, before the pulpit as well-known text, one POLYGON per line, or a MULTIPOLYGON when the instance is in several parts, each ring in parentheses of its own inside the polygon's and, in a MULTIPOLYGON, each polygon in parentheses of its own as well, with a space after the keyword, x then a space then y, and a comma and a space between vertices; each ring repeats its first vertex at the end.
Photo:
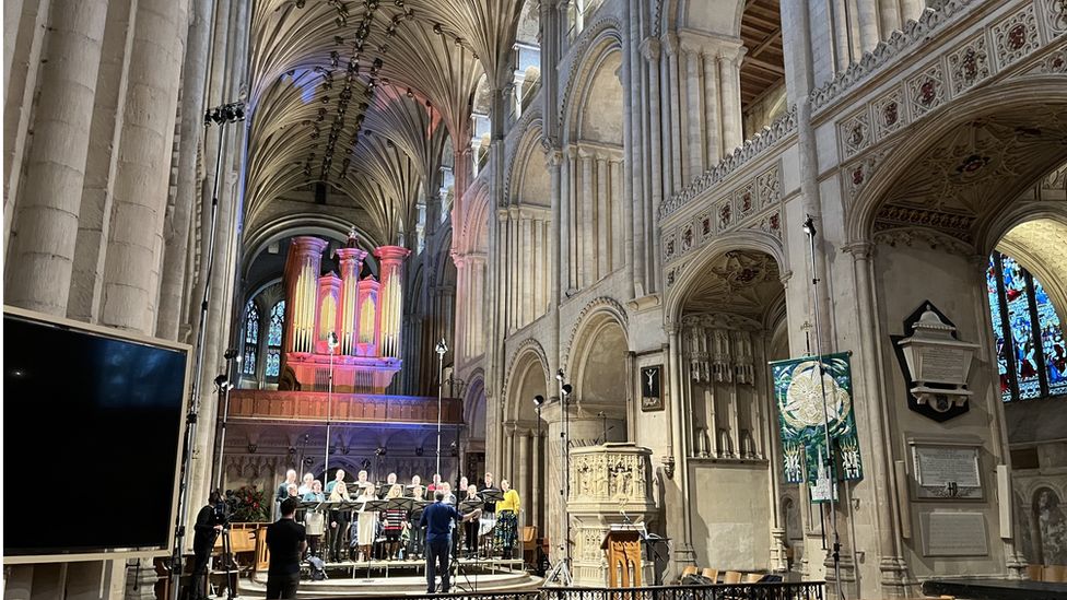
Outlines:
MULTIPOLYGON (((461 587, 461 586, 460 586, 461 587)), ((711 586, 656 586, 642 588, 541 588, 529 591, 467 592, 404 596, 408 599, 456 600, 823 600, 822 581, 773 584, 716 584, 711 586)), ((337 597, 331 597, 336 600, 337 597)), ((384 600, 396 596, 360 596, 384 600)))

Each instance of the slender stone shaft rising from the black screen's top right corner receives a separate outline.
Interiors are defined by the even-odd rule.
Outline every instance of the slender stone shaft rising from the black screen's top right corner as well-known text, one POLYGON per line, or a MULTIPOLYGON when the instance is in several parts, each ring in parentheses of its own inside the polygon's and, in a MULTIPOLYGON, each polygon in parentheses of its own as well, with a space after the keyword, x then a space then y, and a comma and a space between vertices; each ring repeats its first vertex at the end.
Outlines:
MULTIPOLYGON (((185 261, 188 250, 188 232, 196 211, 200 189, 197 158, 200 157, 201 136, 204 128, 200 115, 204 113, 204 95, 208 79, 208 56, 211 52, 211 33, 214 28, 214 0, 192 0, 192 19, 189 39, 181 68, 181 123, 178 142, 178 186, 174 200, 174 214, 166 231, 163 256, 163 283, 160 287, 160 317, 156 333, 167 340, 178 338, 181 321, 181 303, 185 301, 185 261)), ((203 156, 204 160, 211 157, 203 156)))

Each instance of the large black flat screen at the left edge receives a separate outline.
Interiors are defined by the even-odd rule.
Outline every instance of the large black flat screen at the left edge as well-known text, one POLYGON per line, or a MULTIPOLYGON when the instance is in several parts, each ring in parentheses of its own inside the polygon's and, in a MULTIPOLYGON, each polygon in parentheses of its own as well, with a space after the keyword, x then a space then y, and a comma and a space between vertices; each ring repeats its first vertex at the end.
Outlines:
POLYGON ((186 352, 3 317, 5 556, 165 549, 186 352))

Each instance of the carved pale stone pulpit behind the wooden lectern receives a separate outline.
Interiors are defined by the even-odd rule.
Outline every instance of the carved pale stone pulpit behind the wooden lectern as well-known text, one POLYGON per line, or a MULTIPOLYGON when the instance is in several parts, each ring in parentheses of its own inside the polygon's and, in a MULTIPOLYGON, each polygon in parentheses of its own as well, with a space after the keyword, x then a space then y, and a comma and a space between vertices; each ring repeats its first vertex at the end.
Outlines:
MULTIPOLYGON (((617 569, 609 566, 613 563, 609 563, 608 553, 601 544, 612 531, 621 534, 629 530, 633 532, 630 536, 636 536, 643 523, 655 518, 657 508, 652 495, 650 457, 652 450, 648 448, 629 443, 571 450, 567 513, 573 522, 571 575, 574 585, 611 585, 614 578, 610 575, 617 569)), ((631 568, 643 572, 633 579, 655 580, 653 564, 642 557, 642 551, 640 543, 629 550, 629 561, 633 563, 631 568)))

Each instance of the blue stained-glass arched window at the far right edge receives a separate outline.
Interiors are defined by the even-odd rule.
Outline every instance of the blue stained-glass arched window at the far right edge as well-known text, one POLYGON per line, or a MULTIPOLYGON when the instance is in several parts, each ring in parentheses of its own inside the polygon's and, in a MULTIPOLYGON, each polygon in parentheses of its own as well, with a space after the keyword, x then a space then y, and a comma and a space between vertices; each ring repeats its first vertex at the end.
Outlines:
POLYGON ((1048 294, 1013 258, 994 251, 986 270, 1000 399, 1067 393, 1067 349, 1048 294))

